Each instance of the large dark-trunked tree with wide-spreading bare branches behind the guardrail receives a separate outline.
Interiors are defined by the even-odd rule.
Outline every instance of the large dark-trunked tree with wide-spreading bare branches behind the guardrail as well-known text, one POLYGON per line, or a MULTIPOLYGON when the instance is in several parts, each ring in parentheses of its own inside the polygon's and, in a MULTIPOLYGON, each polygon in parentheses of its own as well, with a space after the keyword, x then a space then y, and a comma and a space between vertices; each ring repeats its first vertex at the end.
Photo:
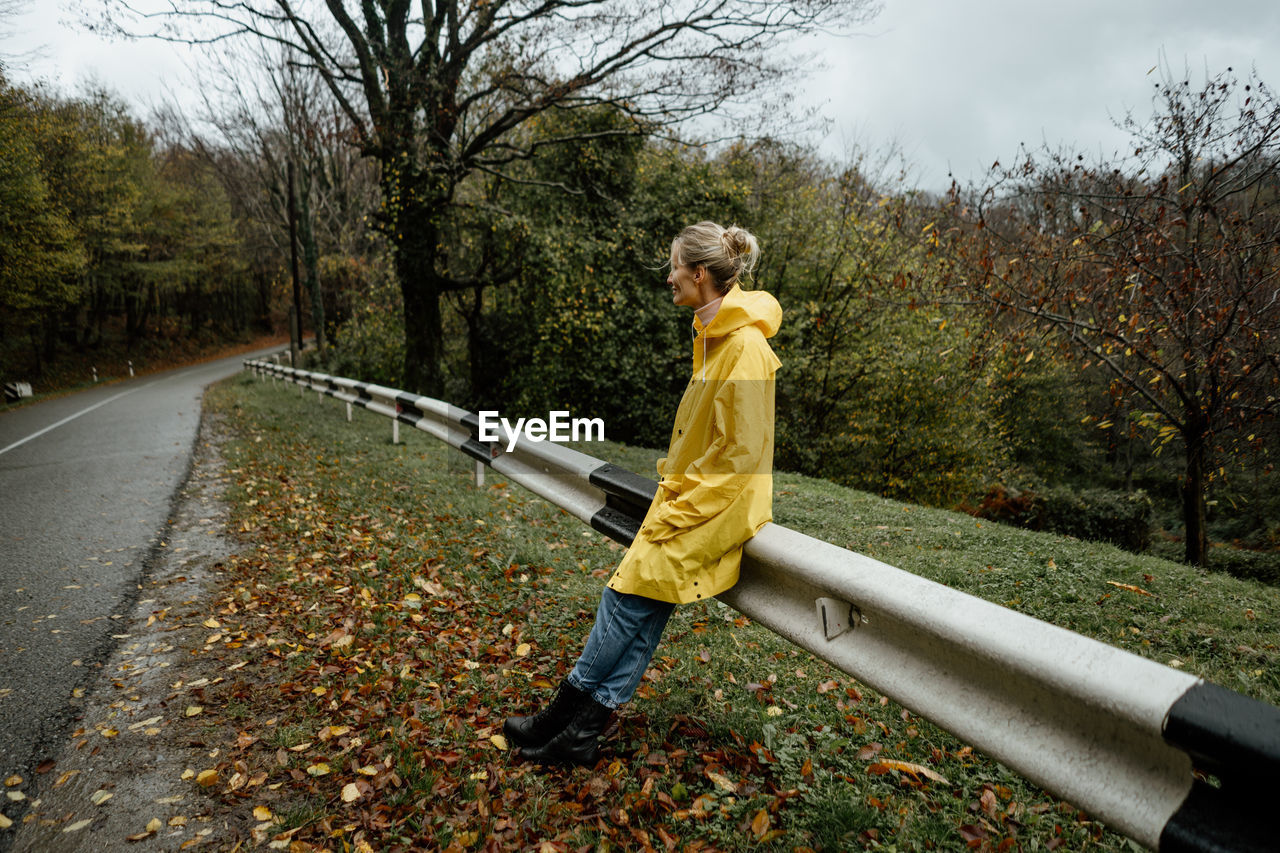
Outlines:
POLYGON ((443 240, 460 183, 507 175, 554 137, 521 128, 553 109, 609 104, 653 127, 732 108, 795 63, 787 37, 852 26, 876 0, 104 0, 118 32, 287 45, 314 68, 380 167, 381 218, 403 295, 404 382, 442 388, 440 297, 513 278, 460 270, 443 240))

